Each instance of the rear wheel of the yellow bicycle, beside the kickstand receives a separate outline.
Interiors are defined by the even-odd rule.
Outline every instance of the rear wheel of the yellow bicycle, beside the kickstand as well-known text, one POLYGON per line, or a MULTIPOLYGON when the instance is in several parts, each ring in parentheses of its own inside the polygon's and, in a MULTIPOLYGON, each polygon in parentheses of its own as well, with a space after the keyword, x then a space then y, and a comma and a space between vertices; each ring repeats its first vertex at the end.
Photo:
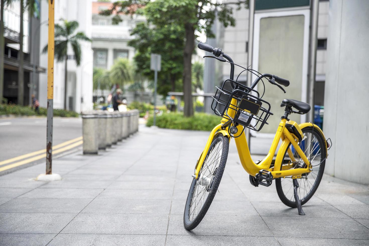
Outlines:
MULTIPOLYGON (((304 150, 305 155, 308 157, 308 160, 313 166, 313 170, 310 173, 302 174, 302 177, 300 179, 297 179, 297 181, 299 182, 299 198, 301 200, 301 205, 303 205, 308 200, 310 200, 311 197, 313 197, 315 191, 320 184, 324 173, 327 149, 325 148, 325 139, 317 129, 313 129, 313 127, 305 127, 301 130, 303 134, 307 136, 307 138, 301 141, 301 143, 299 143, 299 146, 301 147, 301 149, 304 150), (310 155, 307 154, 309 153, 309 151, 310 155), (314 151, 316 151, 316 153, 314 151)), ((290 148, 290 146, 291 143, 288 148, 290 148)), ((287 154, 287 150, 284 153, 282 163, 286 163, 291 160, 289 155, 287 154)), ((298 157, 299 154, 297 154, 297 152, 295 151, 294 158, 299 159, 298 157)), ((294 168, 306 167, 306 164, 302 160, 296 161, 294 165, 294 168), (303 165, 301 163, 303 163, 303 165)), ((283 165, 281 165, 281 170, 282 166, 283 165)), ((296 208, 296 202, 293 196, 292 176, 276 179, 275 182, 280 200, 288 207, 296 208)))

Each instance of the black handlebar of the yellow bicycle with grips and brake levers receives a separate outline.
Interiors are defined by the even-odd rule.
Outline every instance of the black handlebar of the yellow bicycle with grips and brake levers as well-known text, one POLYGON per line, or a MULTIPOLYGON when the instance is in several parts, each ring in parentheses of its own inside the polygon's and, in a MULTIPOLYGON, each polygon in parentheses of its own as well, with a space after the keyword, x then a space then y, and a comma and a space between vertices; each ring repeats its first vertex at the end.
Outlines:
MULTIPOLYGON (((220 49, 220 48, 214 48, 213 46, 211 46, 211 45, 208 45, 208 44, 204 44, 203 42, 199 42, 199 44, 197 45, 197 47, 199 48, 199 49, 202 49, 203 51, 207 51, 207 52, 210 52, 210 53, 213 53, 213 55, 215 56, 215 57, 217 57, 217 58, 219 58, 219 57, 223 57, 223 58, 225 58, 225 59, 227 59, 228 60, 228 62, 230 62, 231 63, 231 73, 230 73, 230 79, 231 80, 233 80, 234 79, 234 62, 233 62, 233 60, 232 60, 232 58, 230 58, 230 56, 228 56, 227 54, 225 54, 224 52, 222 52, 222 49, 220 49)), ((218 59, 218 60, 221 60, 221 61, 224 61, 225 62, 225 60, 223 59, 218 59)), ((290 82, 289 82, 289 80, 287 80, 287 79, 283 79, 283 78, 281 78, 281 77, 278 77, 278 76, 276 76, 276 75, 271 75, 271 74, 269 74, 269 73, 263 73, 262 75, 259 75, 256 79, 255 79, 255 81, 252 83, 252 85, 251 85, 251 89, 254 89, 254 87, 256 86, 256 84, 258 84, 258 82, 263 78, 263 77, 267 77, 267 78, 269 78, 269 82, 271 83, 271 84, 274 84, 274 85, 276 85, 276 86, 278 86, 281 90, 283 90, 284 91, 284 93, 286 93, 286 91, 282 88, 282 86, 285 86, 285 87, 287 87, 287 86, 289 86, 290 85, 290 82), (278 83, 278 84, 276 84, 276 83, 278 83), (279 84, 281 84, 282 86, 280 86, 279 84)))

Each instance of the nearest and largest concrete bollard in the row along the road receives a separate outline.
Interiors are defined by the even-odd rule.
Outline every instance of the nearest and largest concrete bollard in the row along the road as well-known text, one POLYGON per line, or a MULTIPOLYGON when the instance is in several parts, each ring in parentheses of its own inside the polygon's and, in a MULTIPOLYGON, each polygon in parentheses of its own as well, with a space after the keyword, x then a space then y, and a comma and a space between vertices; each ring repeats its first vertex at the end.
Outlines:
POLYGON ((83 154, 97 154, 99 151, 99 136, 97 114, 94 111, 82 113, 83 154))

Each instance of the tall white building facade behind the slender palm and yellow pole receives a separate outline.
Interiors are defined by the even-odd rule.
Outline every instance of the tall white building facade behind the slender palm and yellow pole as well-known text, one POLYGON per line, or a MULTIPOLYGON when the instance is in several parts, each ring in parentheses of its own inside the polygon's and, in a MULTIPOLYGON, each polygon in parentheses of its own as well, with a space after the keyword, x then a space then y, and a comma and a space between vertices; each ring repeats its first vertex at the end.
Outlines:
MULTIPOLYGON (((85 32, 91 38, 92 23, 91 6, 92 0, 64 0, 55 1, 55 23, 63 25, 63 20, 77 21, 79 27, 77 31, 85 32)), ((48 2, 41 1, 41 23, 47 23, 48 2)), ((48 26, 41 25, 40 50, 48 42, 48 26)), ((68 47, 67 64, 67 98, 66 107, 68 110, 82 112, 93 108, 93 50, 91 42, 80 41, 82 60, 80 66, 76 65, 71 47, 68 47)), ((40 66, 47 67, 47 54, 41 54, 40 66)), ((65 62, 54 61, 54 108, 64 107, 65 91, 65 62)), ((41 107, 46 107, 47 103, 47 74, 39 76, 39 102, 41 107)))

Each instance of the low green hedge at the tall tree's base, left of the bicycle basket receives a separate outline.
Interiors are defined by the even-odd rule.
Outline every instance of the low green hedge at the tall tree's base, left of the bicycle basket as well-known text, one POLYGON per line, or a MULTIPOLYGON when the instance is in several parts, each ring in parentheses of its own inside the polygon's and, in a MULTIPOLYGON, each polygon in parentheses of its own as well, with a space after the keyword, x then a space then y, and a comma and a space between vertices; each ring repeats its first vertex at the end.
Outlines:
MULTIPOLYGON (((156 117, 156 125, 160 128, 211 131, 220 124, 221 118, 216 115, 196 113, 192 117, 184 117, 183 113, 162 114, 156 117)), ((146 125, 151 127, 154 118, 148 118, 146 125)))

